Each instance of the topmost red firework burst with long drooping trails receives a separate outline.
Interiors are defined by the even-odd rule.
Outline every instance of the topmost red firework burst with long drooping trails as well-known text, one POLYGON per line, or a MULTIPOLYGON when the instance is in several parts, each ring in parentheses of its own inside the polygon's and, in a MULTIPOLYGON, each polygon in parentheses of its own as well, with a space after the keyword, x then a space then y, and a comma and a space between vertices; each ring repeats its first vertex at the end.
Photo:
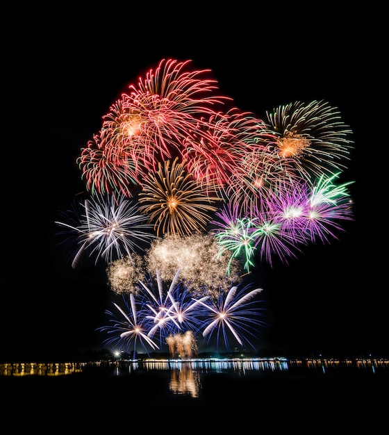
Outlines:
POLYGON ((204 117, 215 113, 214 106, 230 100, 213 95, 217 81, 202 78, 210 70, 185 71, 189 64, 190 60, 161 60, 138 85, 129 85, 129 95, 122 96, 121 117, 104 117, 103 126, 108 129, 127 131, 130 122, 131 134, 121 136, 121 142, 135 140, 135 148, 151 169, 156 170, 157 161, 172 158, 172 150, 179 150, 199 124, 206 125, 204 117))

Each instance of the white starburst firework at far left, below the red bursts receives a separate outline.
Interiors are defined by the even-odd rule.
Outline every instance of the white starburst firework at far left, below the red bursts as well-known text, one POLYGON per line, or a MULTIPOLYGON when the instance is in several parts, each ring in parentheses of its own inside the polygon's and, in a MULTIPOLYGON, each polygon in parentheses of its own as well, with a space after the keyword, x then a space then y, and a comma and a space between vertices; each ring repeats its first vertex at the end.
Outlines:
POLYGON ((94 256, 95 263, 99 260, 110 263, 123 255, 131 258, 133 252, 142 251, 155 238, 152 225, 147 223, 148 216, 138 212, 138 202, 133 199, 121 195, 117 202, 113 196, 95 195, 80 205, 83 213, 77 217, 78 224, 73 224, 74 215, 70 223, 56 221, 76 233, 80 247, 73 258, 73 268, 84 252, 94 256))

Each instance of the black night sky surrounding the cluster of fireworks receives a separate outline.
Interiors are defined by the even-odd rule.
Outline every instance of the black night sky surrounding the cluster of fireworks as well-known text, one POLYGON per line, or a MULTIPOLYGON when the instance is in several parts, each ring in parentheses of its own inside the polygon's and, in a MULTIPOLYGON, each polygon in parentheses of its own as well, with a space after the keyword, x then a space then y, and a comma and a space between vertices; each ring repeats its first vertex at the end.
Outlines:
POLYGON ((326 28, 317 17, 291 23, 285 14, 279 22, 249 10, 228 19, 197 10, 197 19, 178 24, 158 14, 144 17, 147 11, 128 23, 120 10, 115 19, 68 11, 60 22, 15 26, 22 38, 14 35, 6 49, 3 81, 10 97, 3 128, 10 131, 3 142, 1 359, 102 347, 95 329, 106 324, 112 291, 101 270, 65 270, 53 220, 85 190, 76 158, 101 117, 163 58, 210 69, 220 93, 258 117, 314 99, 340 110, 354 133, 342 181, 355 181, 349 186, 355 220, 339 240, 304 248, 290 265, 258 265, 253 277, 269 316, 261 347, 285 354, 388 354, 387 236, 370 197, 380 164, 376 148, 386 146, 377 113, 384 89, 380 40, 358 20, 327 13, 326 28))

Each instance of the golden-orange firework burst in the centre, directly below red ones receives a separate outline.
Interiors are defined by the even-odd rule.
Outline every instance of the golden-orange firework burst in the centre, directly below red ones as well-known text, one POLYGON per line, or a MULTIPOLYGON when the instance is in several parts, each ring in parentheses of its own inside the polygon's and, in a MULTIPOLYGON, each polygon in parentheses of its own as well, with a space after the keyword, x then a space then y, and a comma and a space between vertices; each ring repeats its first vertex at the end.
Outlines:
POLYGON ((210 213, 217 210, 217 197, 204 195, 196 181, 174 159, 158 163, 158 172, 144 179, 139 194, 140 211, 154 222, 157 236, 186 236, 206 229, 210 213))

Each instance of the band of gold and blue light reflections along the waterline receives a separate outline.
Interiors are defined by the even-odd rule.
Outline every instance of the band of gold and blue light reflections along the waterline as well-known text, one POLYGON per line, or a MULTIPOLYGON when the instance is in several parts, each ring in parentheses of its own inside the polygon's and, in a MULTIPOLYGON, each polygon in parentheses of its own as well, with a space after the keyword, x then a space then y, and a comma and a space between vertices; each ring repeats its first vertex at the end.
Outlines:
POLYGON ((199 382, 199 375, 204 373, 238 373, 247 372, 283 372, 304 370, 305 372, 333 372, 334 370, 361 370, 376 373, 389 370, 389 359, 326 359, 306 358, 289 359, 272 358, 232 358, 232 359, 119 359, 117 361, 63 362, 63 363, 0 363, 0 376, 61 376, 86 372, 91 368, 99 368, 110 375, 130 375, 137 370, 164 370, 172 374, 172 388, 179 390, 179 385, 199 382))

